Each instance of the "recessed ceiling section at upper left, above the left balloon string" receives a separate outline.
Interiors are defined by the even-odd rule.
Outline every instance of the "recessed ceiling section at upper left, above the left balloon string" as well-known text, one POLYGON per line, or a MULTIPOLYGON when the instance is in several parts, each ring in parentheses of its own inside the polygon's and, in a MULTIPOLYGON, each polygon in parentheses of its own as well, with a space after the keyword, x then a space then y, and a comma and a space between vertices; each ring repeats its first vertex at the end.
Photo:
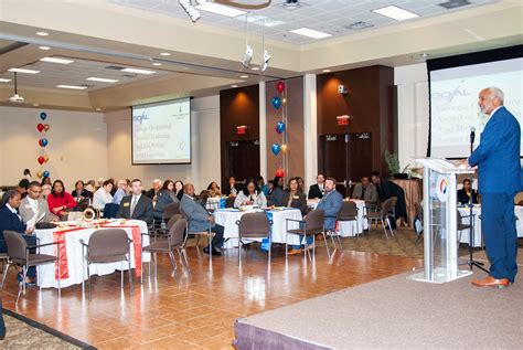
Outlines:
MULTIPOLYGON (((61 59, 68 59, 67 56, 55 56, 61 59)), ((18 68, 35 70, 40 71, 39 74, 24 74, 18 73, 17 81, 19 87, 31 86, 40 88, 55 88, 57 85, 86 85, 87 88, 83 92, 92 92, 99 88, 116 86, 130 82, 138 82, 145 78, 159 77, 169 74, 158 70, 157 67, 150 67, 149 70, 154 71, 154 74, 135 74, 126 73, 116 70, 108 70, 107 66, 119 66, 118 64, 111 64, 107 62, 87 61, 71 59, 74 62, 70 64, 57 64, 50 62, 38 61, 24 66, 18 66, 18 68), (100 83, 86 81, 88 77, 103 77, 110 79, 118 79, 117 83, 100 83)), ((132 67, 125 65, 122 67, 132 67)), ((14 73, 3 72, 0 77, 11 79, 8 83, 0 83, 0 86, 12 85, 14 73)), ((67 89, 64 89, 67 91, 67 89)))

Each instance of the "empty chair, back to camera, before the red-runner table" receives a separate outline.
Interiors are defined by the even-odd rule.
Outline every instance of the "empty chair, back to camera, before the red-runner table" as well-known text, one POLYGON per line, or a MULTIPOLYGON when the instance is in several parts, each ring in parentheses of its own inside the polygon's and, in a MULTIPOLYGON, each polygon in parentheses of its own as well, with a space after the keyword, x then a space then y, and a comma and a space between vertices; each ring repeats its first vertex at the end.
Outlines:
MULTIPOLYGON (((130 266, 130 243, 127 232, 121 229, 104 229, 93 232, 89 237, 89 243, 86 244, 84 240, 79 240, 82 243, 82 251, 84 255, 84 263, 87 263, 87 284, 89 300, 90 296, 90 264, 111 264, 117 262, 127 262, 127 268, 129 271, 129 293, 132 296, 132 274, 130 266), (85 252, 85 250, 87 252, 85 252)), ((83 264, 83 272, 85 273, 85 264, 83 264)), ((121 264, 121 288, 124 288, 124 264, 121 264)), ((82 280, 82 290, 84 288, 85 276, 82 280)))

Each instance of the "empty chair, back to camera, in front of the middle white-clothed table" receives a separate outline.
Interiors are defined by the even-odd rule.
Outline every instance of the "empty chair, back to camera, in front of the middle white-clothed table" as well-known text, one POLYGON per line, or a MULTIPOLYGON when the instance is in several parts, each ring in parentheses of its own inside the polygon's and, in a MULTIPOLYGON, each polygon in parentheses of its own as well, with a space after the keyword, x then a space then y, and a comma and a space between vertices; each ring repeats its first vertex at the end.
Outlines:
POLYGON ((243 238, 268 238, 268 263, 270 265, 270 253, 271 253, 271 237, 270 226, 273 222, 267 219, 265 213, 246 213, 243 214, 239 220, 236 221, 238 225, 238 263, 242 264, 242 245, 244 244, 243 238))

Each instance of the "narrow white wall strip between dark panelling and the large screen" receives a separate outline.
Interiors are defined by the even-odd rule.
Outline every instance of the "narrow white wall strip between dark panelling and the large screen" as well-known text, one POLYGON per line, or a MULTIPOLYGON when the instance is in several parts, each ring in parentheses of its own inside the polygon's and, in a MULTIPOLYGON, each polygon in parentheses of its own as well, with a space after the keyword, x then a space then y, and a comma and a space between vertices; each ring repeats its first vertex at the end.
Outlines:
POLYGON ((429 97, 425 63, 394 68, 397 85, 398 157, 401 169, 427 156, 429 97))

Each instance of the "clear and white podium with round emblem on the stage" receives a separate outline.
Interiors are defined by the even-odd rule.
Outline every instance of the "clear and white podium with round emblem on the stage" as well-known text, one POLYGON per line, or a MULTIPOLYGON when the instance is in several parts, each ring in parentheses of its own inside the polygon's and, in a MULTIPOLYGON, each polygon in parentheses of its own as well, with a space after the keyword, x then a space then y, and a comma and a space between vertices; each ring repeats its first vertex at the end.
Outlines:
POLYGON ((424 167, 424 269, 407 278, 447 283, 472 274, 458 269, 457 182, 460 173, 473 173, 438 158, 416 159, 424 167))

